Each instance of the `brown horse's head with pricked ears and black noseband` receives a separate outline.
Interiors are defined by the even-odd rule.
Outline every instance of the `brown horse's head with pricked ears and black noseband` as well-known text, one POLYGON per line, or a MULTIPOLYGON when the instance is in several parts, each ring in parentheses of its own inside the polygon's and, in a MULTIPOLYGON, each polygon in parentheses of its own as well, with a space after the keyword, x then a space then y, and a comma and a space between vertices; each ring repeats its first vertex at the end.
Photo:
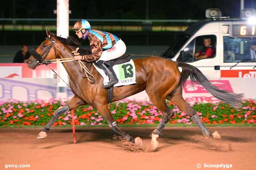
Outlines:
POLYGON ((30 50, 30 58, 26 61, 29 68, 35 69, 40 64, 43 63, 44 60, 56 59, 58 56, 58 51, 56 51, 57 42, 56 36, 50 33, 49 29, 46 29, 47 38, 42 44, 36 49, 30 50))

